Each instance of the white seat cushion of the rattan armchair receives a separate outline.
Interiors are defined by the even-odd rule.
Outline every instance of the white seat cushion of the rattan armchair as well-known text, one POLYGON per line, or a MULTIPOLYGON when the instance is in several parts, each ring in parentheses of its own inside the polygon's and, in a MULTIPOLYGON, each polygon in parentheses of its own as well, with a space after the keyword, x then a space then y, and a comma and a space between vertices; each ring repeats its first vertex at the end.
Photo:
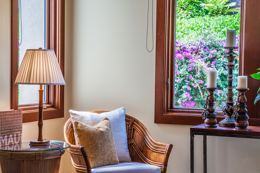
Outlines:
POLYGON ((161 169, 145 163, 123 162, 118 165, 93 168, 92 173, 161 173, 161 169))

